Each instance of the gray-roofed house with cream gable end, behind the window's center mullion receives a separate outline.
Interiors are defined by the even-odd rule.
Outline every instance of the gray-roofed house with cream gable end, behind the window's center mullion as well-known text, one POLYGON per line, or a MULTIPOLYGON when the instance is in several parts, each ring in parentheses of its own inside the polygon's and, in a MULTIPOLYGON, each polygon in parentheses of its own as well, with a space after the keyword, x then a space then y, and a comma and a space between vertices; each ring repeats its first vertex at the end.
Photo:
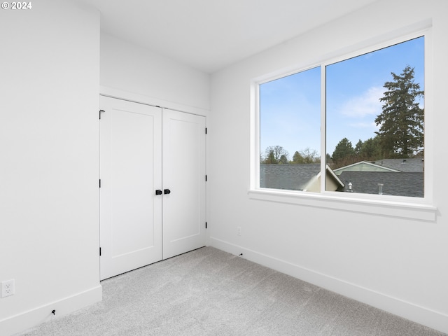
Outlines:
MULTIPOLYGON (((344 188, 344 183, 332 172, 328 165, 326 171, 327 190, 335 191, 344 188)), ((321 164, 260 164, 260 187, 318 193, 321 190, 321 164)))

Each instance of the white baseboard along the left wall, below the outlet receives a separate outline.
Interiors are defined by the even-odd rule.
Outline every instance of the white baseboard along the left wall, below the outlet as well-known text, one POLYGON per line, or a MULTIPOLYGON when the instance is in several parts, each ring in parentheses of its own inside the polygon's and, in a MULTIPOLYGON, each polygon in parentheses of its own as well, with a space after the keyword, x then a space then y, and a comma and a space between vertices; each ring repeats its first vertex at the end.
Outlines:
POLYGON ((59 318, 73 313, 73 311, 101 301, 102 293, 102 286, 98 285, 90 290, 85 290, 85 292, 65 297, 62 300, 50 302, 28 311, 23 311, 15 316, 4 318, 0 321, 0 335, 14 335, 41 323, 51 321, 53 318, 59 318), (53 309, 55 310, 55 314, 51 313, 53 309))

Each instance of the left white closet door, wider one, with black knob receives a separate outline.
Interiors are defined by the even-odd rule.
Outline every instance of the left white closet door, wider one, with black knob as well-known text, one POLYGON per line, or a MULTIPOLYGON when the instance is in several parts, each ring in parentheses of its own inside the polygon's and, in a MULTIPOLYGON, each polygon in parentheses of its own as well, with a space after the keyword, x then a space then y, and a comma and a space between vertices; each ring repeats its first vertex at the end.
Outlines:
POLYGON ((162 260, 162 110, 100 97, 100 279, 162 260))

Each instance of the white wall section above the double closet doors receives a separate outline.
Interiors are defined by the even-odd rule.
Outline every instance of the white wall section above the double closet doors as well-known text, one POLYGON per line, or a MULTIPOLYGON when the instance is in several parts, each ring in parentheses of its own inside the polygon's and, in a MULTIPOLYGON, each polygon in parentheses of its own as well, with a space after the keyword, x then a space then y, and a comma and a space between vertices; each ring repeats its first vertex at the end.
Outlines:
POLYGON ((100 83, 101 93, 137 102, 204 116, 210 109, 209 74, 104 33, 100 83))

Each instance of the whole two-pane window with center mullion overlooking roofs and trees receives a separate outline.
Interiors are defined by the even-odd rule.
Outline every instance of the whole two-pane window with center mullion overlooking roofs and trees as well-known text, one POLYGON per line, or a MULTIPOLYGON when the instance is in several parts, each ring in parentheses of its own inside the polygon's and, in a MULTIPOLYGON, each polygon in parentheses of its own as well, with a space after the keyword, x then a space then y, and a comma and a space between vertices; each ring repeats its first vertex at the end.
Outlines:
POLYGON ((424 197, 424 39, 258 83, 258 186, 424 197))

